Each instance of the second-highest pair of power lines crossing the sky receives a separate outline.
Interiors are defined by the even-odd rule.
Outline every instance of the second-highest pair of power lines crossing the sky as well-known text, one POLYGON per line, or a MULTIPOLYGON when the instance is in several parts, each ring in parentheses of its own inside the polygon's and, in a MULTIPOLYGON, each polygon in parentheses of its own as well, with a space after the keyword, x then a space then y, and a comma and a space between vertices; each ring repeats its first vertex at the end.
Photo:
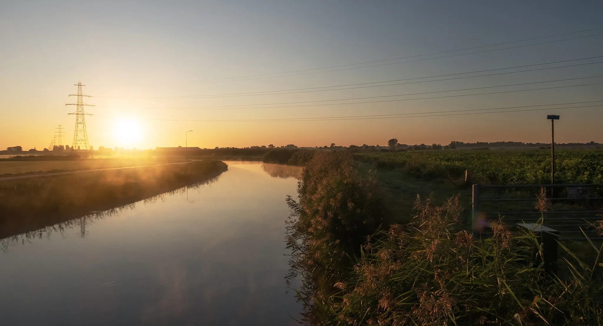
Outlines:
POLYGON ((417 80, 424 78, 435 78, 435 77, 446 77, 453 75, 466 75, 466 74, 474 74, 477 72, 487 72, 487 71, 499 71, 504 69, 514 69, 520 67, 530 67, 530 66, 541 66, 544 64, 554 64, 554 63, 562 63, 569 61, 578 61, 578 60, 587 60, 592 58, 603 58, 603 55, 599 55, 597 57, 589 57, 589 58, 581 58, 581 59, 573 59, 573 60, 563 60, 563 61, 554 61, 549 63, 536 63, 536 64, 528 64, 525 66, 515 66, 515 67, 506 67, 506 68, 497 68, 497 69, 487 69, 482 71, 472 71, 472 72, 459 72, 456 74, 447 74, 447 75, 437 75, 437 76, 428 76, 428 77, 415 77, 415 78, 406 78, 402 80, 387 80, 387 81, 374 81, 371 83, 358 83, 358 84, 346 84, 346 85, 338 85, 338 86, 324 86, 324 87, 308 87, 303 89, 289 89, 289 90, 273 90, 266 92, 250 92, 250 93, 226 93, 226 94, 216 94, 216 95, 189 95, 189 96, 98 96, 98 97, 106 97, 106 98, 169 98, 169 99, 179 99, 179 98, 229 98, 229 97, 239 97, 239 96, 259 96, 259 95, 284 95, 284 94, 295 94, 295 93, 310 93, 310 92, 327 92, 332 90, 348 90, 348 89, 364 89, 370 87, 384 87, 384 86, 398 86, 398 85, 407 85, 407 84, 418 84, 418 83, 430 83, 432 81, 446 81, 446 80, 458 80, 465 78, 476 78, 476 77, 488 77, 488 76, 496 76, 496 75, 506 75, 506 74, 516 74, 520 72, 530 72, 530 71, 543 71, 548 69, 558 69, 565 67, 577 67, 577 66, 586 66, 589 64, 603 63, 603 61, 589 62, 589 63, 578 63, 578 64, 569 64, 566 66, 558 66, 558 67, 543 67, 537 69, 526 69, 522 71, 510 71, 510 72, 499 72, 496 74, 486 74, 486 75, 477 75, 477 76, 465 76, 465 77, 455 77, 455 78, 443 78, 439 80, 425 80, 425 81, 413 81, 410 83, 397 83, 397 84, 385 84, 385 85, 371 85, 371 86, 359 86, 359 87, 347 87, 347 88, 339 88, 339 89, 323 89, 323 88, 332 88, 332 87, 345 87, 345 86, 358 86, 358 85, 369 85, 369 84, 381 84, 381 83, 392 83, 395 81, 408 81, 408 80, 417 80), (289 92, 295 91, 295 92, 289 92), (298 91, 298 92, 297 92, 298 91), (281 92, 281 93, 277 93, 281 92))

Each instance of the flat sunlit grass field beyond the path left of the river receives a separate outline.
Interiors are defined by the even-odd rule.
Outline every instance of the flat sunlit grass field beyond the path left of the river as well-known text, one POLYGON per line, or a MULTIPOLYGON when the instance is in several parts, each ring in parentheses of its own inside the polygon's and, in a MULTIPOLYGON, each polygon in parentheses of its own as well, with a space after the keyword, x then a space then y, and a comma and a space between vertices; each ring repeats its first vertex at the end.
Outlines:
POLYGON ((0 160, 0 175, 123 168, 126 166, 153 165, 179 160, 182 160, 182 158, 87 158, 69 161, 0 160))

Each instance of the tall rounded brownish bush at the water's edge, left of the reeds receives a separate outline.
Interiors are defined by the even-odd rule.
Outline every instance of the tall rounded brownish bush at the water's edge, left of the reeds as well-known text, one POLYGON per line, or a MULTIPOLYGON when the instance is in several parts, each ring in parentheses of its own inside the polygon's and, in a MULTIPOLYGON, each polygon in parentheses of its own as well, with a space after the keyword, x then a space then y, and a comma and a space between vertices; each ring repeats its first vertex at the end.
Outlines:
MULTIPOLYGON (((291 272, 306 280, 336 281, 351 267, 365 237, 384 218, 376 181, 359 175, 349 152, 317 152, 303 169, 298 200, 289 196, 291 216, 286 243, 291 249, 291 272), (311 267, 309 267, 311 266, 311 267)), ((307 283, 314 291, 314 283, 307 283)))

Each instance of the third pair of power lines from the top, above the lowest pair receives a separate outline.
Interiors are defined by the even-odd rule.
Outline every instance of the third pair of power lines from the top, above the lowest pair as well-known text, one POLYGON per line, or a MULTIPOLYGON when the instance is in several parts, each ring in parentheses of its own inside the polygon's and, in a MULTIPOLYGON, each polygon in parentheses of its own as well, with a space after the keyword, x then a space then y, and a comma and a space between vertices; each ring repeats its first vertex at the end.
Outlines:
MULTIPOLYGON (((364 96, 364 97, 359 97, 359 98, 323 99, 323 100, 316 100, 316 101, 280 102, 280 103, 263 103, 263 104, 242 104, 242 105, 218 105, 218 106, 209 106, 209 107, 191 107, 191 108, 188 108, 188 109, 189 110, 200 110, 200 109, 239 108, 239 107, 250 107, 250 106, 259 106, 259 105, 305 104, 305 103, 330 102, 330 101, 352 101, 352 100, 356 100, 356 99, 388 98, 388 97, 395 97, 395 96, 423 95, 423 94, 434 94, 434 93, 443 93, 443 92, 459 92, 459 91, 464 91, 464 90, 490 89, 490 88, 496 88, 496 87, 523 86, 523 85, 529 85, 529 84, 553 83, 553 82, 557 82, 557 81, 582 80, 582 79, 587 79, 587 78, 598 78, 598 77, 603 77, 603 75, 592 76, 592 77, 567 78, 567 79, 563 79, 563 80, 535 81, 535 82, 532 82, 532 83, 507 84, 507 85, 500 85, 500 86, 473 87, 473 88, 470 88, 470 89, 438 90, 438 91, 434 91, 434 92, 406 93, 406 94, 382 95, 382 96, 364 96)), ((596 84, 601 84, 601 83, 581 84, 581 85, 572 85, 572 86, 546 87, 546 88, 541 88, 541 89, 555 89, 555 88, 563 88, 563 87, 588 86, 588 85, 596 85, 596 84)), ((505 91, 505 92, 492 92, 492 93, 479 93, 479 94, 467 94, 467 95, 438 96, 438 97, 435 97, 435 98, 456 97, 456 96, 472 96, 472 95, 485 95, 485 94, 509 93, 509 92, 525 92, 525 91, 528 91, 528 90, 541 90, 541 89, 510 90, 510 91, 505 91)), ((415 99, 429 99, 429 98, 415 98, 415 99)), ((406 99, 406 100, 409 100, 409 99, 406 99)), ((402 99, 402 100, 394 100, 394 101, 405 101, 405 100, 402 99)), ((388 101, 376 101, 376 102, 388 102, 388 101)), ((358 102, 358 103, 372 103, 372 102, 358 102)), ((351 103, 328 103, 328 104, 318 104, 318 105, 341 105, 341 104, 356 104, 356 103, 354 103, 354 102, 351 102, 351 103)), ((298 107, 298 106, 314 106, 314 105, 295 105, 294 107, 298 107)), ((292 106, 281 106, 281 107, 272 107, 272 108, 282 108, 282 107, 292 107, 292 106)), ((156 107, 156 109, 165 109, 165 108, 169 108, 169 107, 156 107)), ((251 107, 251 108, 254 108, 254 107, 251 107)), ((268 107, 268 108, 271 108, 271 107, 268 107)), ((187 108, 180 108, 180 107, 178 107, 178 109, 186 110, 187 108)))

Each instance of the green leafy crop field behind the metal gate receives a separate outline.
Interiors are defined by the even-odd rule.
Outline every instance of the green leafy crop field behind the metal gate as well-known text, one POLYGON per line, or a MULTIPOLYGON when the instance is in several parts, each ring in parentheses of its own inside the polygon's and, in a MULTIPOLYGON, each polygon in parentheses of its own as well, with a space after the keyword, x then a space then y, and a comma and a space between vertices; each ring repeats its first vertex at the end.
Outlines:
MULTIPOLYGON (((377 168, 401 169, 416 177, 453 183, 548 184, 551 151, 545 149, 444 150, 356 153, 377 168)), ((603 149, 555 151, 556 183, 603 183, 603 149)))

